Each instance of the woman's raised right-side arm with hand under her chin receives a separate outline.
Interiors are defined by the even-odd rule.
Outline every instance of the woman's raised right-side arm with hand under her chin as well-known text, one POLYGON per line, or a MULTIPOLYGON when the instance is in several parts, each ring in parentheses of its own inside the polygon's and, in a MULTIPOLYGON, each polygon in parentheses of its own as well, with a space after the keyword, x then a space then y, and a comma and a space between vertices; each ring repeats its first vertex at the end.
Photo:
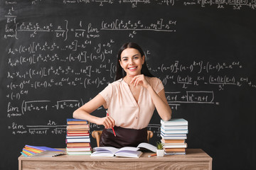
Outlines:
POLYGON ((144 86, 149 91, 152 101, 156 106, 156 111, 159 113, 161 119, 163 120, 171 119, 171 108, 166 100, 164 89, 162 89, 159 92, 159 94, 156 94, 156 91, 154 91, 154 89, 149 84, 149 82, 145 79, 143 74, 135 76, 132 79, 131 83, 134 84, 134 86, 137 86, 138 84, 141 86, 144 86))

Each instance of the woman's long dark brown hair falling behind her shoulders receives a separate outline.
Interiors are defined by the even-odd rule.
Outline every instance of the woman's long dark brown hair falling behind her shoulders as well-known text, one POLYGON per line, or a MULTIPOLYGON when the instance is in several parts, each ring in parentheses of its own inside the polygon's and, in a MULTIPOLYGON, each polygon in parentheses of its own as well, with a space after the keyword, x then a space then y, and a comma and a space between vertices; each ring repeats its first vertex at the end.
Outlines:
MULTIPOLYGON (((124 45, 122 45, 122 47, 120 47, 120 50, 117 54, 117 72, 116 72, 116 77, 115 77, 115 80, 119 80, 121 78, 124 78, 126 76, 126 72, 124 72, 124 69, 122 69, 120 63, 119 63, 119 60, 121 60, 121 54, 122 52, 127 49, 127 48, 134 48, 136 50, 139 51, 139 53, 144 56, 144 52, 142 50, 141 47, 139 47, 139 45, 137 45, 137 43, 134 43, 134 42, 127 42, 125 43, 124 45)), ((141 71, 142 74, 144 74, 144 76, 146 77, 154 77, 150 72, 149 72, 149 69, 146 65, 146 58, 144 60, 144 64, 142 64, 142 71, 141 71)))

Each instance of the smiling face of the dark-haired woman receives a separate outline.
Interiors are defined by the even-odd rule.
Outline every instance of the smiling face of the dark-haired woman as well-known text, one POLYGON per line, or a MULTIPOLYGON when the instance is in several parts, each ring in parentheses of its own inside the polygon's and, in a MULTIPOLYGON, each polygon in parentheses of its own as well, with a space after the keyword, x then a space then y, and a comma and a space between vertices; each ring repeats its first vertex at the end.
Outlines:
POLYGON ((127 48, 122 51, 119 63, 127 76, 134 77, 141 74, 144 59, 145 56, 142 56, 135 48, 127 48))

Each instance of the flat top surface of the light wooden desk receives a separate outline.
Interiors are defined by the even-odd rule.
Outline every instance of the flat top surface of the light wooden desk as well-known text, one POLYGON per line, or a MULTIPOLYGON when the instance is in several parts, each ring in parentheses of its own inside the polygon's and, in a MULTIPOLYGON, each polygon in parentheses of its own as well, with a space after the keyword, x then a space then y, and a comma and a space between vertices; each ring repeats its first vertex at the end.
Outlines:
MULTIPOLYGON (((63 149, 65 150, 65 149, 63 149)), ((152 152, 144 152, 139 158, 127 158, 127 157, 90 157, 90 155, 60 155, 57 157, 24 157, 21 155, 18 157, 18 161, 23 160, 44 160, 44 161, 111 161, 111 162, 159 162, 159 161, 212 161, 212 158, 203 152, 202 149, 186 149, 184 155, 165 155, 164 157, 148 157, 152 152)))

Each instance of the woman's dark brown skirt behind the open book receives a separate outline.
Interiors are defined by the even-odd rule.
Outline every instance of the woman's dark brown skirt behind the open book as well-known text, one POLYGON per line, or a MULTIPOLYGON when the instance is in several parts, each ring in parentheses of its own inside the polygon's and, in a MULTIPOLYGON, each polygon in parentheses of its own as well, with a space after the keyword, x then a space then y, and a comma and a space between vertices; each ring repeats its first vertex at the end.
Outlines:
POLYGON ((141 130, 114 127, 104 129, 100 137, 100 147, 137 147, 142 142, 147 142, 147 129, 141 130), (116 137, 114 137, 114 132, 116 137))

